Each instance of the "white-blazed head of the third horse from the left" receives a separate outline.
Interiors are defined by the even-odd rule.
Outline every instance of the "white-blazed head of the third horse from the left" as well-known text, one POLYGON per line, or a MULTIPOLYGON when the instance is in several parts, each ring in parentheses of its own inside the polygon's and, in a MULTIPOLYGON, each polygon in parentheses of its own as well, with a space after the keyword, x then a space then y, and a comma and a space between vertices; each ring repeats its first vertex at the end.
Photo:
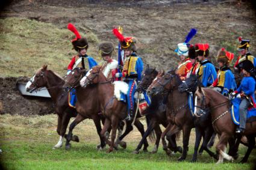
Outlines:
POLYGON ((86 87, 89 84, 93 83, 99 83, 99 75, 102 74, 103 77, 104 74, 101 72, 101 66, 97 65, 90 69, 87 73, 86 76, 83 77, 83 79, 80 80, 80 85, 81 87, 86 87))

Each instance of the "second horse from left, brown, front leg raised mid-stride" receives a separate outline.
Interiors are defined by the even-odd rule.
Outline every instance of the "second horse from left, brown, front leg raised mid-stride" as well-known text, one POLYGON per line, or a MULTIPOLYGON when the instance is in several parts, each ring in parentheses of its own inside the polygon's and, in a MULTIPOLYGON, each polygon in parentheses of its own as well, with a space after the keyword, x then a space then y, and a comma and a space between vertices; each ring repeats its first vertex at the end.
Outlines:
POLYGON ((84 76, 86 70, 80 67, 74 68, 71 73, 66 76, 63 89, 70 91, 73 88, 76 90, 76 104, 75 108, 78 112, 75 120, 69 126, 69 133, 67 134, 66 149, 71 147, 70 140, 72 139, 73 128, 81 121, 90 118, 96 126, 99 139, 101 141, 99 150, 105 147, 105 141, 101 136, 101 108, 99 107, 99 100, 97 97, 97 88, 95 85, 88 85, 86 88, 80 86, 80 79, 84 76))

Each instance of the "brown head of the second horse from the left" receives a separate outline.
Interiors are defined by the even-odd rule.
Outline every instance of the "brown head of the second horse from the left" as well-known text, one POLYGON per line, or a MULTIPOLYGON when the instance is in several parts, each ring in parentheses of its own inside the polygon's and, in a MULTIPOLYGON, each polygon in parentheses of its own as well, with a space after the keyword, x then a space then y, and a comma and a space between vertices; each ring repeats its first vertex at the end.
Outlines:
POLYGON ((72 88, 76 88, 80 85, 80 80, 86 73, 86 69, 80 67, 74 68, 65 78, 65 83, 63 89, 65 91, 70 91, 72 88))

